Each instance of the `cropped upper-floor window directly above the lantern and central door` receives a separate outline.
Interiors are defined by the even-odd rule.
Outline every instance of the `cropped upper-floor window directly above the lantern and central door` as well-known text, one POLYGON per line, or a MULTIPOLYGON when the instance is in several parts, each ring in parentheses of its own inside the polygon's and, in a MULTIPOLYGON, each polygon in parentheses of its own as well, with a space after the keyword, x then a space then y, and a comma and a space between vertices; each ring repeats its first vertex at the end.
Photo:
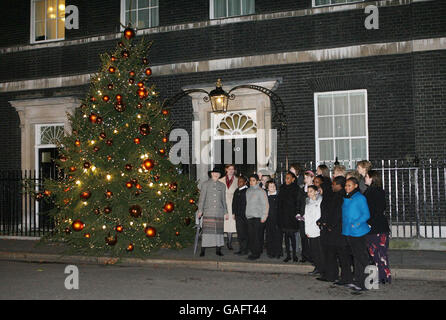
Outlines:
POLYGON ((255 13, 254 0, 211 0, 211 19, 255 13))

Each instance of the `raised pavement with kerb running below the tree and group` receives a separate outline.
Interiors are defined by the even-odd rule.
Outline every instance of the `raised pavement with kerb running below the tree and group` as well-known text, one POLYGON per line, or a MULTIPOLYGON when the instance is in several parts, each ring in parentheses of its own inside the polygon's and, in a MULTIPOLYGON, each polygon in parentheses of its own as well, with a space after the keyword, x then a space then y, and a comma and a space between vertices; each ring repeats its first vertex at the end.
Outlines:
MULTIPOLYGON (((234 244, 237 249, 237 243, 234 244)), ((97 264, 149 267, 178 267, 212 271, 260 272, 269 274, 307 274, 313 270, 309 263, 285 263, 262 254, 250 261, 246 256, 234 255, 227 248, 224 256, 207 249, 204 257, 193 254, 193 248, 182 250, 160 249, 145 259, 92 257, 66 255, 63 243, 39 243, 38 240, 0 239, 0 261, 34 263, 97 264)), ((446 281, 446 251, 389 250, 389 263, 393 279, 446 281)))

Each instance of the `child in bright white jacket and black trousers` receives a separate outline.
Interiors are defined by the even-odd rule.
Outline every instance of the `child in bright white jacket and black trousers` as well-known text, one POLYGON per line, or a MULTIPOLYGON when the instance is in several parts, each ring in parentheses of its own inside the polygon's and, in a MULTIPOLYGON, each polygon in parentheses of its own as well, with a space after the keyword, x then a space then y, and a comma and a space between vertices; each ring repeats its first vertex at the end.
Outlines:
POLYGON ((308 198, 305 203, 305 234, 310 242, 311 257, 314 262, 314 270, 311 275, 323 275, 324 257, 320 243, 321 231, 316 221, 321 218, 322 196, 314 185, 308 186, 308 198))

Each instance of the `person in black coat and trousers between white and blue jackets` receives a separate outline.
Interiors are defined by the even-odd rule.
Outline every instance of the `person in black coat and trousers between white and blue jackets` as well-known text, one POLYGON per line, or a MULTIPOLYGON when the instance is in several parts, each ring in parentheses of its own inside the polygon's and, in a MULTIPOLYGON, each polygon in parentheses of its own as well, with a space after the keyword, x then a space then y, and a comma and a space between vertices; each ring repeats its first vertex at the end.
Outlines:
POLYGON ((344 187, 346 179, 339 176, 333 179, 332 190, 321 204, 321 243, 325 255, 325 273, 317 278, 321 281, 334 282, 339 277, 341 266, 341 280, 335 284, 347 285, 353 282, 351 258, 345 236, 342 235, 342 204, 344 203, 344 187))

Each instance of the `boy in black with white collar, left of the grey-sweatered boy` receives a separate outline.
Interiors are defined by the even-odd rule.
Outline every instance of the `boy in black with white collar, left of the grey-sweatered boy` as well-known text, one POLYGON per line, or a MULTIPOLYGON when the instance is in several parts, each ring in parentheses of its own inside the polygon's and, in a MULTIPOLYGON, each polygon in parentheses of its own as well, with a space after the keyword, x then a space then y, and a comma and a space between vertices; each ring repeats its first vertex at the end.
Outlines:
POLYGON ((234 192, 232 198, 232 214, 235 215, 235 228, 237 230, 237 239, 239 243, 239 251, 234 254, 248 254, 248 219, 246 219, 246 178, 241 176, 238 178, 238 189, 234 192))

